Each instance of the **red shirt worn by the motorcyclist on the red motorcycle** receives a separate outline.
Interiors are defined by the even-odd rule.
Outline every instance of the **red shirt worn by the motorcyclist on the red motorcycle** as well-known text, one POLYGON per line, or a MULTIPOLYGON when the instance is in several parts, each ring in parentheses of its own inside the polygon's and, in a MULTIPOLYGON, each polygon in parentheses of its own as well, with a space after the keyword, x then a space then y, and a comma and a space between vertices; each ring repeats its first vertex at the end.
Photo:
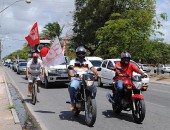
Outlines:
MULTIPOLYGON (((129 62, 129 64, 126 66, 121 64, 121 62, 117 62, 116 65, 114 66, 114 69, 116 69, 117 67, 122 68, 122 70, 120 70, 121 74, 123 74, 123 75, 128 74, 130 77, 132 76, 133 71, 135 71, 136 73, 139 72, 139 68, 134 63, 131 63, 131 62, 129 62)), ((114 77, 115 80, 122 80, 123 78, 124 77, 118 76, 117 73, 114 77)))

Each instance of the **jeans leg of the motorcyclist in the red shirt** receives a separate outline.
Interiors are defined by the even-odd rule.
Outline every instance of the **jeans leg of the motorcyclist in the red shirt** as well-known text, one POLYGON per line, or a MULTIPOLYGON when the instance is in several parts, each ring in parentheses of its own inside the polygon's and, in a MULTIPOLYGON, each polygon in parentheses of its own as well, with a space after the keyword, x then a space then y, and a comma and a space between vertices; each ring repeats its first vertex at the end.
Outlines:
POLYGON ((116 81, 116 95, 114 98, 115 103, 120 103, 120 95, 123 91, 123 80, 117 80, 116 81))

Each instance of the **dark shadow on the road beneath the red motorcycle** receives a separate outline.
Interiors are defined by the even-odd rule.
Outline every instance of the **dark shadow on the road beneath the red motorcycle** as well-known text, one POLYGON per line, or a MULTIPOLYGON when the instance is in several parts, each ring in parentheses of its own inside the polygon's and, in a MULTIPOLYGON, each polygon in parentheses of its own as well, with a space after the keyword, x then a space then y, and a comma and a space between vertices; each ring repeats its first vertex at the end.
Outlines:
POLYGON ((102 114, 103 114, 106 118, 117 118, 117 119, 120 119, 120 120, 125 120, 125 121, 129 121, 129 122, 134 122, 134 121, 133 121, 132 114, 129 114, 129 113, 123 113, 123 112, 121 112, 121 114, 114 114, 112 110, 106 110, 106 111, 103 111, 102 114))

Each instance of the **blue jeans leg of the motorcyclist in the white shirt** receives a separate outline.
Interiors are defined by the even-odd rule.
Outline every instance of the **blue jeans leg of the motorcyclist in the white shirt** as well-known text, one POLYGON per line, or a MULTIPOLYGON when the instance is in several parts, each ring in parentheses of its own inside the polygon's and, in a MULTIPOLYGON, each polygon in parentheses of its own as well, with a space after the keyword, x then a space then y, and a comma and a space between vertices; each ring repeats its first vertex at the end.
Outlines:
POLYGON ((75 96, 76 96, 76 90, 80 88, 81 81, 77 78, 73 78, 71 80, 70 86, 69 86, 69 93, 70 93, 70 103, 75 103, 75 96))

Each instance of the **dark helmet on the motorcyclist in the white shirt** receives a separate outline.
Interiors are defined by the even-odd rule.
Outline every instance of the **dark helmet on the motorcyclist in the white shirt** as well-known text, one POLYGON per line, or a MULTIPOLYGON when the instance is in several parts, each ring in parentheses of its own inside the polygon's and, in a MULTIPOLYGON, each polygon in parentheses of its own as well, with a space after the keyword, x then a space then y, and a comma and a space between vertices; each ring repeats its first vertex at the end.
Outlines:
POLYGON ((83 46, 79 46, 76 49, 76 55, 79 60, 83 60, 86 55, 86 49, 83 46))

